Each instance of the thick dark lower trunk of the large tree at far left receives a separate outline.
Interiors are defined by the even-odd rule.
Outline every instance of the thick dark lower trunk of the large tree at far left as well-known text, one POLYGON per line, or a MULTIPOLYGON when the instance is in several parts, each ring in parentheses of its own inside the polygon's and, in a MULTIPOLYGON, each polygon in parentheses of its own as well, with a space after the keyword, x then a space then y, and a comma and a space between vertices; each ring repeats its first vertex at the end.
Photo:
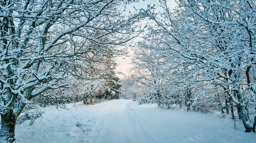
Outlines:
POLYGON ((13 113, 13 109, 7 109, 6 114, 1 114, 1 130, 0 137, 4 137, 7 143, 12 143, 15 138, 15 125, 17 115, 13 113))

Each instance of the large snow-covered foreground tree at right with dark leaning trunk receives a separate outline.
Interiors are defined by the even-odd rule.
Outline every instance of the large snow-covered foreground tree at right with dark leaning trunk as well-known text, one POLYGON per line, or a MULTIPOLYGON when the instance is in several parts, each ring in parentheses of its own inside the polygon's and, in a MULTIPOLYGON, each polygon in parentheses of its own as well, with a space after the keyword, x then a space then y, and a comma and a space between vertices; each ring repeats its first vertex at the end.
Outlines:
POLYGON ((256 2, 178 0, 171 12, 161 0, 160 7, 148 15, 155 24, 144 43, 157 53, 165 51, 170 85, 186 94, 192 90, 195 102, 228 95, 241 112, 245 132, 255 132, 256 117, 251 123, 246 104, 256 101, 256 2))

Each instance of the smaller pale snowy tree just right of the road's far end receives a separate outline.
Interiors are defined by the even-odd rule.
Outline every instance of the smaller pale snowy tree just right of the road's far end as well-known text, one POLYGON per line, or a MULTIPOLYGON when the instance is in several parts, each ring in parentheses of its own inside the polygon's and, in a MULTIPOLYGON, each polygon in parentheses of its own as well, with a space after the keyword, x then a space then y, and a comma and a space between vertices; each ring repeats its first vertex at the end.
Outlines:
POLYGON ((134 49, 132 64, 134 69, 138 71, 134 80, 150 89, 147 92, 151 91, 151 96, 157 100, 158 107, 160 107, 160 89, 164 82, 164 76, 166 76, 164 72, 166 65, 163 63, 165 63, 166 57, 163 56, 163 51, 147 49, 145 46, 148 46, 148 44, 141 43, 134 49))

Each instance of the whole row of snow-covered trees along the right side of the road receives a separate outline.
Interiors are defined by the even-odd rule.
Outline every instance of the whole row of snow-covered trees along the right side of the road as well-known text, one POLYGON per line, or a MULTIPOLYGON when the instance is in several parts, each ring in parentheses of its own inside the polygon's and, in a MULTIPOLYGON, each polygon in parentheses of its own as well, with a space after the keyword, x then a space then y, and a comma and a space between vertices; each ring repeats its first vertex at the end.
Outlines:
POLYGON ((132 78, 144 87, 138 101, 217 109, 232 119, 237 111, 245 132, 255 132, 256 1, 177 0, 171 10, 161 0, 157 8, 134 48, 132 78))

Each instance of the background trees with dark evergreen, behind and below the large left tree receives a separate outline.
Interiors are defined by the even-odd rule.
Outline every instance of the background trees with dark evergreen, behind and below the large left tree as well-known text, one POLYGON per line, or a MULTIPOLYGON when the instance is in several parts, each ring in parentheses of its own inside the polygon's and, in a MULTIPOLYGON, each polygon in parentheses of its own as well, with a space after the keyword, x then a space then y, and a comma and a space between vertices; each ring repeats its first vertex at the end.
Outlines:
MULTIPOLYGON (((108 57, 109 58, 109 57, 108 57)), ((103 100, 119 99, 122 84, 119 77, 116 76, 116 63, 111 57, 106 60, 110 63, 103 66, 102 63, 97 65, 97 69, 86 69, 91 71, 83 73, 80 76, 69 76, 62 83, 67 83, 67 87, 52 89, 38 95, 32 99, 36 106, 60 106, 65 108, 67 103, 76 103, 82 101, 84 104, 96 104, 103 100), (99 70, 99 67, 101 68, 99 70)))

